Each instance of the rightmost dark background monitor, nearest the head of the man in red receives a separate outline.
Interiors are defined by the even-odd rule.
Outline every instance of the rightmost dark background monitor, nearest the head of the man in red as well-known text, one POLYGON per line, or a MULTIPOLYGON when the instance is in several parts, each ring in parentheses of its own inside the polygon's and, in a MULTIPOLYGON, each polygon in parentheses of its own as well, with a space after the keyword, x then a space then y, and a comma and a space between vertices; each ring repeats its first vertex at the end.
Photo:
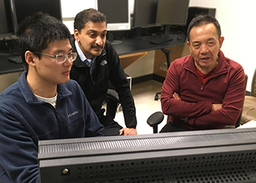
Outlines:
POLYGON ((158 0, 156 22, 161 25, 186 25, 189 0, 158 0))

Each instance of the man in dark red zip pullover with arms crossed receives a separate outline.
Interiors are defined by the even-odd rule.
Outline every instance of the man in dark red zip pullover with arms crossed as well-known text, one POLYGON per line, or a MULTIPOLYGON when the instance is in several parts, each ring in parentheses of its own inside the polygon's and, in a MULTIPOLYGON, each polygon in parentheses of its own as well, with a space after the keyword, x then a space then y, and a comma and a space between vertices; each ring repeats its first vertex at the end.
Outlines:
POLYGON ((221 28, 200 15, 188 26, 191 55, 170 65, 161 90, 161 107, 169 116, 160 132, 225 128, 234 125, 245 96, 242 66, 224 57, 221 28))

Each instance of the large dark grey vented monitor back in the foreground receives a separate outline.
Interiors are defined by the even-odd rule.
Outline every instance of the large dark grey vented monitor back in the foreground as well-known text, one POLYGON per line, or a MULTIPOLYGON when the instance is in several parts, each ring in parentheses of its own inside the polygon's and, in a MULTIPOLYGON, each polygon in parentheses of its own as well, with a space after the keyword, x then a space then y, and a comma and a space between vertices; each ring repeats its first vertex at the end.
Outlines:
POLYGON ((256 128, 38 143, 41 183, 255 182, 256 128))

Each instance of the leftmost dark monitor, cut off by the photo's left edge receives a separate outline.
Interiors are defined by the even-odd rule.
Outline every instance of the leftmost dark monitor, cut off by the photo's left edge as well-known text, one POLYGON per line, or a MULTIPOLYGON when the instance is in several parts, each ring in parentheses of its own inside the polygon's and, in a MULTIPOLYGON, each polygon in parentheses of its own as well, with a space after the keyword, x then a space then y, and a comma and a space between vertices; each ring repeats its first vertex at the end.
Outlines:
POLYGON ((0 37, 14 34, 11 0, 0 0, 0 37))

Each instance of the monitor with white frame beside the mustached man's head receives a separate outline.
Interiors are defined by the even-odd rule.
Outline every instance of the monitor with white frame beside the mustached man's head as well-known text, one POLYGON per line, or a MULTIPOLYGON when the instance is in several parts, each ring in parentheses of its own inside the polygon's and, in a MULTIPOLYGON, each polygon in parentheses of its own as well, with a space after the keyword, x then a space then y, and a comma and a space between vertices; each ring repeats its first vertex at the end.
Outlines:
POLYGON ((107 31, 131 29, 129 0, 98 0, 98 10, 107 16, 107 31))

